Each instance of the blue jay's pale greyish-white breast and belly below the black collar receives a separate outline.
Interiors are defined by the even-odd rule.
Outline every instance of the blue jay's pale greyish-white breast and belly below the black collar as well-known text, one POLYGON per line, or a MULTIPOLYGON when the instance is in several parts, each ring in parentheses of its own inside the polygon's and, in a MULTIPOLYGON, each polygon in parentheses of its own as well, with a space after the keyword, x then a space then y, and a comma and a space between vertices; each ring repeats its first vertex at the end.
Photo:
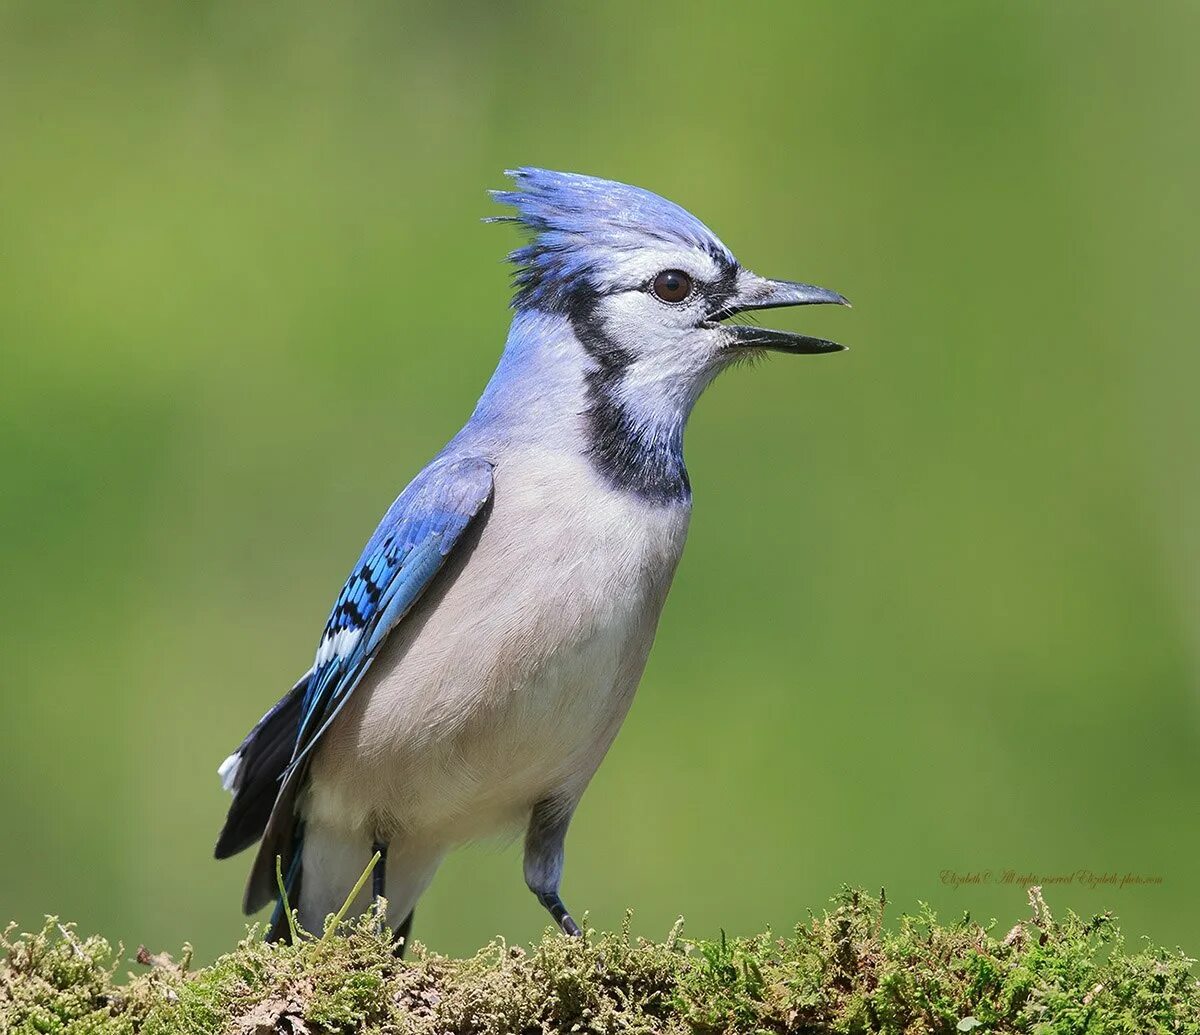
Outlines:
MULTIPOLYGON (((316 762, 314 783, 368 797, 400 826, 452 816, 474 836, 547 794, 582 792, 628 711, 686 536, 686 504, 614 491, 586 457, 530 450, 494 477, 490 511, 316 762)), ((347 807, 341 791, 331 807, 347 807)))

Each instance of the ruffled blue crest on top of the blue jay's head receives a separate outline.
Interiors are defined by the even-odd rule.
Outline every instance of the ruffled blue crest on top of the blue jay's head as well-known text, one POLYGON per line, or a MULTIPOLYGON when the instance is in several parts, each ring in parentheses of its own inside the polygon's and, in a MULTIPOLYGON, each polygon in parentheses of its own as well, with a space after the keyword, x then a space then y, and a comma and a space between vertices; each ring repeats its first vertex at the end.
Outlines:
POLYGON ((516 309, 560 310, 580 289, 594 288, 606 261, 655 241, 702 249, 722 265, 734 258, 686 209, 658 195, 580 173, 510 169, 516 190, 492 191, 515 216, 488 222, 520 223, 533 240, 509 255, 516 265, 516 309))

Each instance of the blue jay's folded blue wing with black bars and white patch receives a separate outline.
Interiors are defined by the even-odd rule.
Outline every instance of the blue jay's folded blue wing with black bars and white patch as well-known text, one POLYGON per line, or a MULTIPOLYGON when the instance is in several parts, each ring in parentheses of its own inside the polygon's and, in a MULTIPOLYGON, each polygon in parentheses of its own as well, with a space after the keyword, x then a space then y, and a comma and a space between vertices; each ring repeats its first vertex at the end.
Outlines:
POLYGON ((458 457, 431 463, 391 504, 325 623, 284 776, 308 756, 491 497, 492 465, 458 457))

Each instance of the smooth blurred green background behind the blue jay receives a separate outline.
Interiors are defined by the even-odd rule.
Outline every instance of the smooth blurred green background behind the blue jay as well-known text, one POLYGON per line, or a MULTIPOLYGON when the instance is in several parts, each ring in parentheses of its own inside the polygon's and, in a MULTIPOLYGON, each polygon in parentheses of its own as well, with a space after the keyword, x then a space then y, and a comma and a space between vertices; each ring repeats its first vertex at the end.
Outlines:
MULTIPOLYGON (((242 932, 215 767, 508 324, 502 169, 644 185, 847 341, 702 401, 691 539, 566 899, 842 881, 1200 950, 1194 4, 0 7, 0 921, 242 932), (953 887, 941 873, 990 871, 953 887)), ((454 856, 418 937, 544 914, 454 856)))

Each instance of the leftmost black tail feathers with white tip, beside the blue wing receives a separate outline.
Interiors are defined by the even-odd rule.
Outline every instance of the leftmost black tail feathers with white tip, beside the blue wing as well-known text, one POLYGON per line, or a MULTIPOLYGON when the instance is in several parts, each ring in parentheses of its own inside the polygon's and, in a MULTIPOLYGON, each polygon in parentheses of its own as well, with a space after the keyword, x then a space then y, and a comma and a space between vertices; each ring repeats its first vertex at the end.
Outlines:
POLYGON ((305 672, 222 764, 218 772, 233 802, 217 838, 215 855, 228 858, 263 837, 280 796, 281 778, 292 759, 300 712, 312 672, 305 672))

